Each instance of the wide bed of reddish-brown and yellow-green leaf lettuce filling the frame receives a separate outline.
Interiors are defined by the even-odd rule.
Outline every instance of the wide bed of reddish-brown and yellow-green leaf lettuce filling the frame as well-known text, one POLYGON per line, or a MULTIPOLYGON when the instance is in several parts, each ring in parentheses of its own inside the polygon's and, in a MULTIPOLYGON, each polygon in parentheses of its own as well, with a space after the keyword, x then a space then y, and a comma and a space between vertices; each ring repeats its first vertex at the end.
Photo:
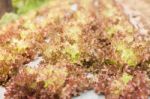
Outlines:
POLYGON ((50 0, 1 26, 5 98, 71 99, 94 89, 106 99, 147 99, 146 38, 115 0, 50 0))

